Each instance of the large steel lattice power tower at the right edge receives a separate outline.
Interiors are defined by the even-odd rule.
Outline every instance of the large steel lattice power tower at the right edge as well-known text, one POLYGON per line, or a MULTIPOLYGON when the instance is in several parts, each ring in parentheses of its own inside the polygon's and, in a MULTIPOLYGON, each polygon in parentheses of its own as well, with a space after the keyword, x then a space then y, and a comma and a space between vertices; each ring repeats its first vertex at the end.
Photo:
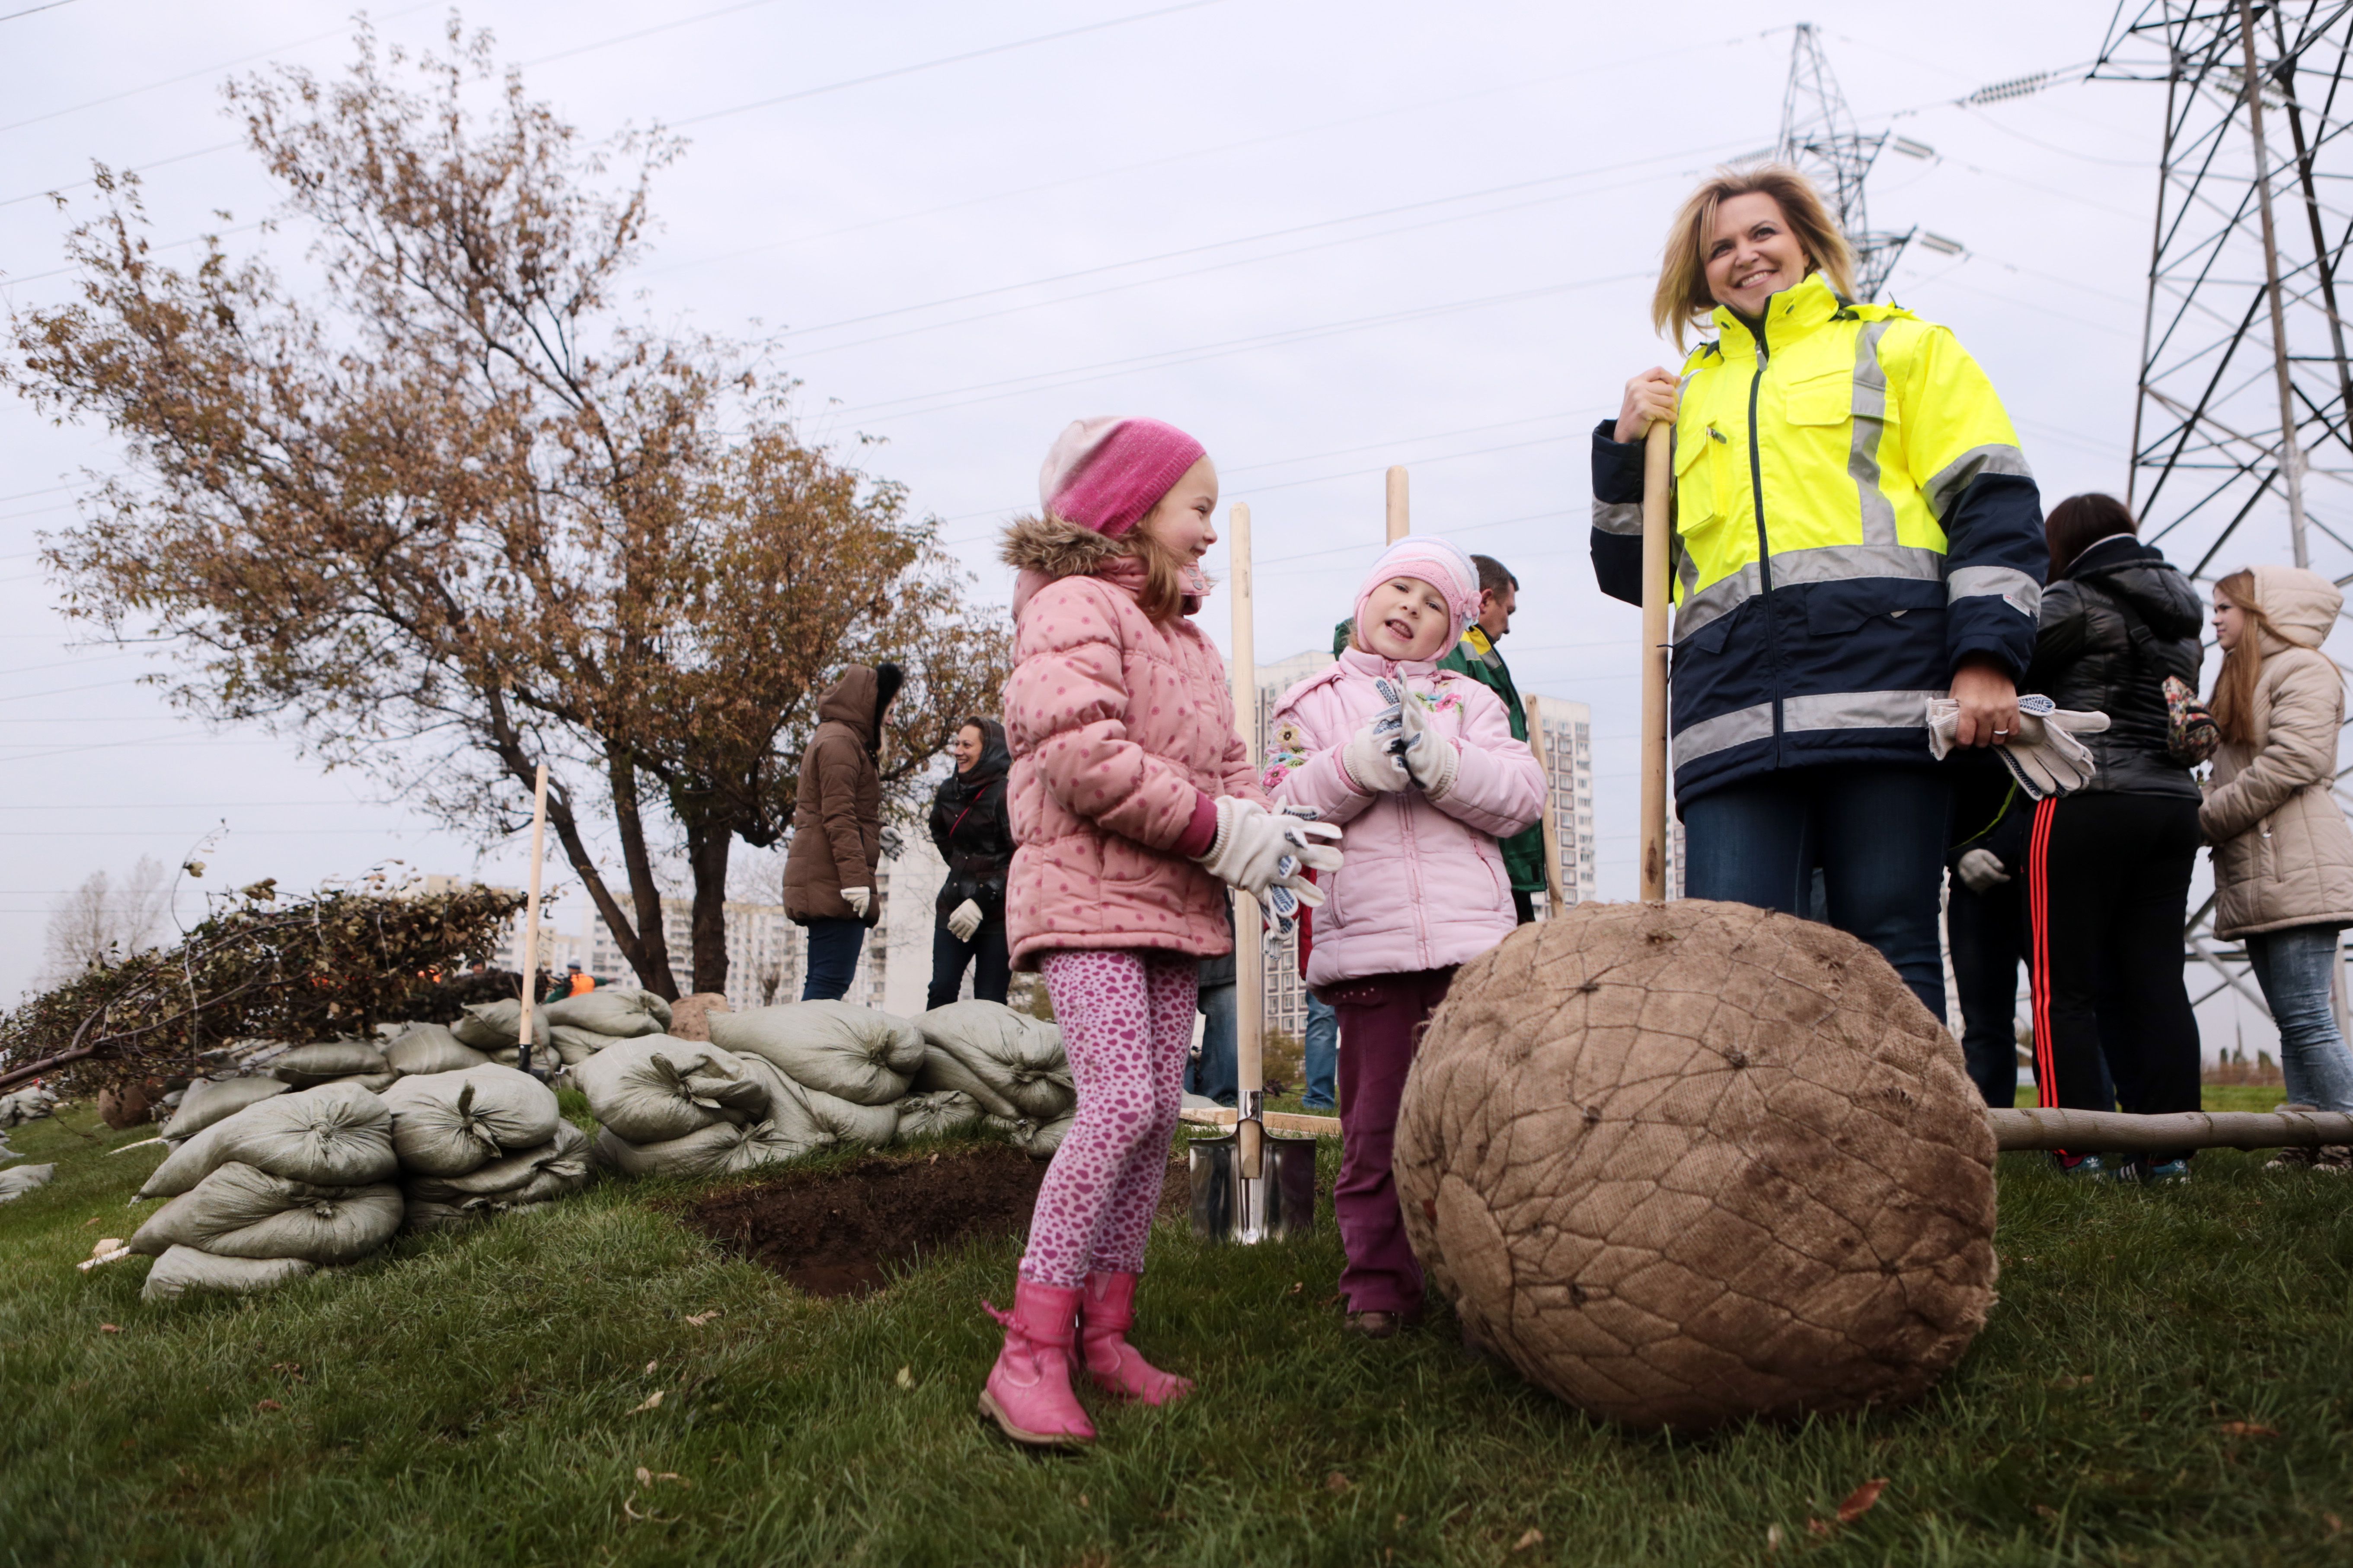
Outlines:
MULTIPOLYGON (((2122 0, 2092 68, 2165 82, 2125 494, 2141 536, 2205 583, 2282 555, 2353 581, 2353 374, 2337 310, 2353 240, 2348 56, 2346 0, 2122 0)), ((2339 773, 2339 802, 2344 790, 2339 773)), ((2264 1006, 2242 957, 2209 936, 2209 910, 2191 919, 2186 959, 2264 1006)))

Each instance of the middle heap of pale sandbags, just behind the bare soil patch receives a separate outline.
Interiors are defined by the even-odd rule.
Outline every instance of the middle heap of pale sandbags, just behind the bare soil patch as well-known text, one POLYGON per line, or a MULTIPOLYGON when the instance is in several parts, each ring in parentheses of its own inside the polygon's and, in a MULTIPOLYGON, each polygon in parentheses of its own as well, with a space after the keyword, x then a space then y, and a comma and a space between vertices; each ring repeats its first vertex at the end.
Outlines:
POLYGON ((814 1150, 880 1147, 922 1053, 904 1018, 840 1001, 713 1013, 713 1039, 609 1041, 572 1067, 605 1124, 598 1157, 631 1175, 715 1175, 814 1150))

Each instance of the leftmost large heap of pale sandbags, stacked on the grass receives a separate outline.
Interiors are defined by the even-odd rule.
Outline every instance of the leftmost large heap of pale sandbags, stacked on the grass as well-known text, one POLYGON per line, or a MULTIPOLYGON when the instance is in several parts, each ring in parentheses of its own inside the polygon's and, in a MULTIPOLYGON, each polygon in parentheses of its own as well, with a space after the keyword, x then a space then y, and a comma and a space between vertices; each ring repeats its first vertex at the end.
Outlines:
POLYGON ((294 1088, 191 1086, 172 1152, 139 1190, 172 1199, 129 1239, 155 1255, 146 1298, 264 1291, 358 1262, 407 1229, 534 1208, 588 1180, 588 1138, 539 1079, 480 1063, 294 1088))

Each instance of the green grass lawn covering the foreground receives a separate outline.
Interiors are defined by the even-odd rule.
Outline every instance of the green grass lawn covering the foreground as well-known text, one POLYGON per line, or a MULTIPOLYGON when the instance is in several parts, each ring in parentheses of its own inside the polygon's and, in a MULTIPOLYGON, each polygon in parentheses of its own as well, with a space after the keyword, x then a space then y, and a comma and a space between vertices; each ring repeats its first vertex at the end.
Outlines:
POLYGON ((680 1227, 696 1187, 605 1180, 271 1298, 144 1307, 141 1260, 73 1269, 136 1222, 153 1154, 104 1150, 139 1135, 80 1112, 12 1133, 59 1175, 0 1206, 7 1563, 2353 1556, 2353 1190, 2261 1157, 2158 1192, 2007 1157, 2002 1302, 1922 1406, 1704 1441, 1591 1425, 1442 1314, 1353 1342, 1329 1227, 1207 1248, 1165 1225, 1136 1338, 1202 1392, 1033 1458, 972 1413, 1012 1241, 812 1300, 680 1227), (1807 1533, 1871 1476, 1871 1514, 1807 1533))

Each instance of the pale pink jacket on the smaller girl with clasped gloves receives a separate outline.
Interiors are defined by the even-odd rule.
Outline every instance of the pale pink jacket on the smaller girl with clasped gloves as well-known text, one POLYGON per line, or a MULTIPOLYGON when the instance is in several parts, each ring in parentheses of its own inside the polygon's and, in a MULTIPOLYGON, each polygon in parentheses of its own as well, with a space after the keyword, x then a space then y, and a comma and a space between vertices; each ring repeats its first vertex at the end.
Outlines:
POLYGON ((1344 827, 1348 863, 1313 914, 1308 985, 1447 969, 1511 936, 1518 914, 1497 839, 1544 816, 1544 769, 1511 738, 1504 698, 1454 670, 1348 649, 1282 693, 1271 750, 1275 799, 1344 827), (1341 766, 1339 748, 1388 705, 1377 677, 1405 684, 1431 712, 1433 738, 1461 752, 1445 799, 1367 795, 1341 766))

